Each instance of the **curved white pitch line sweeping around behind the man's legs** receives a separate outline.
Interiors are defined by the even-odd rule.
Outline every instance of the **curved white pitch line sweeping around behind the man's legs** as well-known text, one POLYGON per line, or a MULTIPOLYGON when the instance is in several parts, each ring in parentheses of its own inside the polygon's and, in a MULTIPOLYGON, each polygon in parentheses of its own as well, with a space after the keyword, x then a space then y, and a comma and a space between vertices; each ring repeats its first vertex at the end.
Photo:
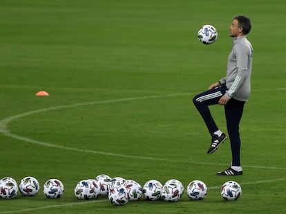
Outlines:
MULTIPOLYGON (((8 136, 10 138, 15 138, 17 140, 21 140, 23 142, 30 142, 35 145, 41 145, 44 147, 52 147, 56 149, 65 149, 65 150, 70 150, 70 151, 77 151, 77 152, 82 152, 82 153, 94 153, 94 154, 99 154, 99 155, 104 155, 104 156, 117 156, 117 157, 122 157, 122 158, 135 158, 135 159, 142 159, 142 160, 160 160, 160 161, 168 161, 168 162, 187 162, 187 163, 192 163, 192 164, 201 164, 201 165, 216 165, 216 166, 224 166, 225 164, 219 164, 219 163, 213 163, 213 162, 196 162, 193 160, 171 160, 167 158, 152 158, 152 157, 146 157, 146 156, 128 156, 124 154, 118 154, 118 153, 109 153, 109 152, 104 152, 104 151, 93 151, 93 150, 87 150, 87 149, 77 149, 73 147, 64 147, 60 145, 53 145, 49 144, 46 142, 41 142, 39 140, 33 140, 30 138, 26 138, 23 136, 17 136, 14 133, 11 133, 8 129, 7 126, 9 122, 12 122, 13 120, 16 120, 18 118, 23 118, 25 116, 30 116, 32 114, 39 114, 42 112, 46 111, 54 111, 57 109, 64 109, 64 108, 72 108, 72 107, 78 107, 78 106, 83 106, 83 105, 99 105, 99 104, 108 104, 108 103, 120 103, 120 102, 126 102, 126 101, 131 101, 131 100, 144 100, 144 99, 149 99, 149 98, 165 98, 165 97, 172 97, 172 96, 190 96, 191 94, 166 94, 166 95, 154 95, 154 96, 142 96, 142 97, 133 97, 133 98, 122 98, 122 99, 115 99, 115 100, 102 100, 102 101, 95 101, 95 102, 88 102, 88 103, 76 103, 72 105, 59 105, 56 107, 49 107, 46 109, 38 109, 35 111, 28 111, 23 114, 17 114, 15 116, 10 116, 8 118, 4 118, 3 120, 0 121, 0 133, 3 133, 3 135, 8 136)), ((265 167, 265 166, 243 166, 245 168, 255 168, 255 169, 275 169, 275 170, 286 170, 286 168, 283 167, 265 167)))

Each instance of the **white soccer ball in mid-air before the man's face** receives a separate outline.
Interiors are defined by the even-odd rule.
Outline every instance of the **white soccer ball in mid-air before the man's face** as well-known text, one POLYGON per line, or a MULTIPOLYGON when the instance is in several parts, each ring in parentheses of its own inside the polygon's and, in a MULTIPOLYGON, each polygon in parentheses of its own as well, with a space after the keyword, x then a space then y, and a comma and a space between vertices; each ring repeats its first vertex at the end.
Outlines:
POLYGON ((201 43, 209 45, 218 39, 218 32, 212 25, 203 25, 198 31, 198 39, 201 43))

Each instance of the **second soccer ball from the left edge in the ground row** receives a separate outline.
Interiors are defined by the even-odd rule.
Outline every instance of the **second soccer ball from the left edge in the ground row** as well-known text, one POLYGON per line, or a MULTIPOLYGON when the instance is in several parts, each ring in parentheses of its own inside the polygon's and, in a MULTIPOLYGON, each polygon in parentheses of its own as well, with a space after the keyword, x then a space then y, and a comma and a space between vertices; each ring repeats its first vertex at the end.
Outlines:
POLYGON ((33 177, 25 177, 21 180, 19 184, 20 193, 24 196, 34 196, 39 193, 39 182, 36 178, 33 177))

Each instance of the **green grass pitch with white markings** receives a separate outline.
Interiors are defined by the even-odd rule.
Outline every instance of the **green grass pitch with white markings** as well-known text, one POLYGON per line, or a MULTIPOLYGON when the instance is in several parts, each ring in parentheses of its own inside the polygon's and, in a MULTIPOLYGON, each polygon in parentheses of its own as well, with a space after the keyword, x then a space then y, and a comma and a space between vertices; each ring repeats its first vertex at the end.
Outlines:
MULTIPOLYGON (((4 213, 285 213, 285 3, 190 0, 1 0, 0 177, 39 180, 35 197, 0 200, 4 213), (225 75, 236 14, 251 18, 252 92, 242 118, 240 177, 218 177, 229 140, 207 155, 191 99, 225 75), (201 44, 201 25, 218 30, 201 44), (45 90, 50 96, 35 94, 45 90), (198 202, 77 200, 79 180, 105 173, 144 184, 176 178, 209 187, 198 202), (64 183, 48 200, 49 178, 64 183), (225 202, 235 180, 242 197, 225 202)), ((226 131, 222 107, 211 107, 226 131)))

